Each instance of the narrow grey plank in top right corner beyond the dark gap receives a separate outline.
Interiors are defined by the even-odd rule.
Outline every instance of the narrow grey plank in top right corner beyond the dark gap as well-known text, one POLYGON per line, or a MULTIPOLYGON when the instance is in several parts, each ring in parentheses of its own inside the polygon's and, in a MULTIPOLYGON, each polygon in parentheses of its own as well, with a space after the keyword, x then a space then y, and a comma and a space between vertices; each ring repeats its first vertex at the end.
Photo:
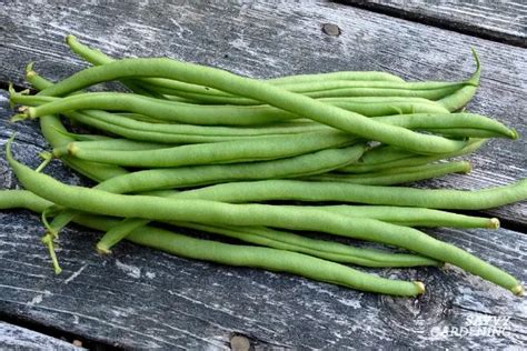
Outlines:
POLYGON ((527 7, 493 0, 341 0, 362 9, 461 33, 527 47, 527 7))

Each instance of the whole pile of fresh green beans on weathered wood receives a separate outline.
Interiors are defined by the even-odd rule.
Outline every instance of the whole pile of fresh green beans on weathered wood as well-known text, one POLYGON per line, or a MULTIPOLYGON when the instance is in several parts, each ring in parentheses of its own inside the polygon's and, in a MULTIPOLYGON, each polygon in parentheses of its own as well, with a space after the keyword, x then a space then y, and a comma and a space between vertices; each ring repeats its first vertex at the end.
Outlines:
POLYGON ((490 138, 519 138, 494 119, 459 111, 479 86, 476 52, 476 72, 457 82, 367 71, 257 80, 171 59, 116 60, 72 36, 67 43, 95 67, 53 83, 31 63, 27 79, 39 92, 10 88, 19 110, 12 120, 39 119, 50 150, 32 170, 16 160, 13 136, 7 158, 26 190, 0 191, 0 209, 41 213, 57 273, 54 244, 76 222, 106 232, 96 244, 102 254, 126 239, 189 259, 402 297, 425 293, 425 284, 364 269, 450 263, 524 293, 507 272, 418 228, 496 229, 496 218, 444 210, 525 200, 527 180, 471 192, 394 187, 468 173, 468 161, 450 159, 490 138), (83 91, 113 80, 131 92, 83 91), (72 187, 44 174, 52 159, 97 184, 72 187))

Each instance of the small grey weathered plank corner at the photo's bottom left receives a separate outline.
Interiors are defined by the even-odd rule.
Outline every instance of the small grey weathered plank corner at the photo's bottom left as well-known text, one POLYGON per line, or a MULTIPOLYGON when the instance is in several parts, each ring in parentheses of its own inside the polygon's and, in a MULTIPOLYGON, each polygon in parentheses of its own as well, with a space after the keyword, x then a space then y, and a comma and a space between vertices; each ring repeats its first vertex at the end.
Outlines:
POLYGON ((66 341, 0 321, 1 350, 86 350, 66 341))

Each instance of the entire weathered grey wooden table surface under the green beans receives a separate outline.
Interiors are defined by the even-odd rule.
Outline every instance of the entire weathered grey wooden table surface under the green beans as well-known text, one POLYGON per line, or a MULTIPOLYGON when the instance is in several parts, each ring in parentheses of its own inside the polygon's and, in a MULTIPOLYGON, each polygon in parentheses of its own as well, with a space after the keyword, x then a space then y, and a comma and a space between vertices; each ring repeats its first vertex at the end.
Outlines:
MULTIPOLYGON (((251 77, 387 70, 409 80, 455 80, 474 70, 475 47, 484 73, 469 109, 527 136, 521 1, 173 2, 0 0, 2 143, 18 131, 18 157, 38 163, 46 142, 36 122, 8 122, 6 89, 9 81, 27 87, 23 68, 30 61, 52 79, 81 69, 84 63, 63 44, 68 33, 117 57, 170 56, 251 77)), ((526 178, 526 140, 495 140, 471 157, 470 176, 420 184, 477 189, 526 178)), ((1 187, 17 188, 3 150, 0 160, 1 187)), ((59 162, 50 172, 87 183, 59 162)), ((503 228, 432 233, 527 281, 527 204, 486 213, 499 217, 503 228)), ((0 228, 0 349, 73 349, 58 340, 64 339, 93 349, 216 350, 230 348, 235 335, 247 338, 232 343, 240 349, 240 340, 253 349, 527 345, 527 300, 459 270, 384 271, 427 283, 424 297, 398 299, 129 243, 102 258, 93 250, 99 234, 71 227, 61 239, 64 271, 54 275, 37 215, 3 211, 0 228)))

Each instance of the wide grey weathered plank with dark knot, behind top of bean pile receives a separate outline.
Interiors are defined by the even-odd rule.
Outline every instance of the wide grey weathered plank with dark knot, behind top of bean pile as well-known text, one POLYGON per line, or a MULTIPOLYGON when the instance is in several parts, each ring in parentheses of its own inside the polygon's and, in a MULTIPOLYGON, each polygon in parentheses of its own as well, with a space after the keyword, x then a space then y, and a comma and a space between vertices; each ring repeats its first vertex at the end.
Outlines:
MULTIPOLYGON (((337 3, 186 1, 71 7, 10 2, 0 8, 0 81, 23 86, 23 68, 60 79, 86 64, 63 43, 67 33, 117 57, 168 56, 249 77, 337 70, 386 70, 410 80, 456 80, 474 70, 469 48, 483 60, 481 87, 469 110, 527 134, 525 50, 337 3), (28 14, 29 13, 29 14, 28 14), (341 29, 338 37, 324 23, 341 29)), ((478 189, 527 177, 527 143, 493 140, 470 157, 470 177, 447 177, 430 187, 478 189)), ((491 211, 527 224, 527 205, 491 211)))

